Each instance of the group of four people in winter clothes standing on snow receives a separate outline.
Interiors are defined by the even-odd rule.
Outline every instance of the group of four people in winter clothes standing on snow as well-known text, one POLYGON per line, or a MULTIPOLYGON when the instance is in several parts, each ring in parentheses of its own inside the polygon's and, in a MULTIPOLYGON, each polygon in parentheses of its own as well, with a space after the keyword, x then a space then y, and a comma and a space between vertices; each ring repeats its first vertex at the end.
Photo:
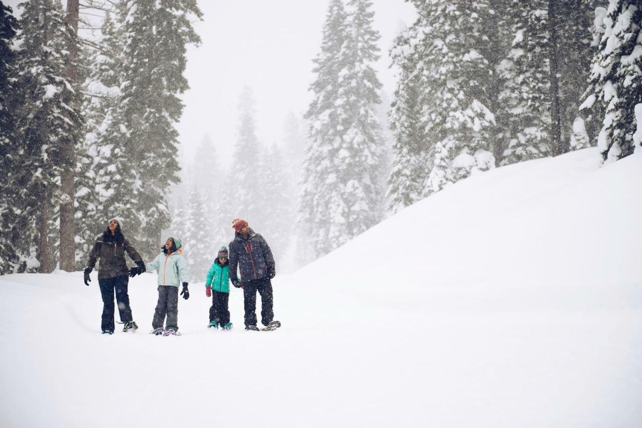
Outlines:
MULTIPOLYGON (((205 295, 212 298, 207 327, 229 330, 230 322, 229 282, 243 288, 245 302, 245 329, 259 330, 256 326, 256 293, 261 295, 261 323, 266 329, 275 329, 281 323, 273 321, 272 282, 276 274, 272 250, 265 239, 256 234, 243 219, 232 221, 234 240, 221 246, 218 257, 207 272, 205 295), (240 277, 237 275, 237 269, 240 277)), ((123 221, 112 218, 108 221, 107 230, 96 239, 89 262, 84 271, 85 285, 89 286, 89 274, 99 262, 98 285, 103 300, 101 329, 103 334, 114 333, 114 293, 123 331, 138 329, 132 318, 132 309, 127 292, 129 277, 135 277, 145 271, 158 271, 158 302, 152 321, 152 333, 168 336, 178 332, 178 287, 182 285, 180 295, 189 298, 187 261, 182 254, 182 242, 178 237, 167 239, 162 252, 151 263, 143 259, 134 246, 123 235, 123 221), (125 253, 131 257, 136 266, 127 269, 125 253), (164 324, 164 325, 163 325, 164 324)))

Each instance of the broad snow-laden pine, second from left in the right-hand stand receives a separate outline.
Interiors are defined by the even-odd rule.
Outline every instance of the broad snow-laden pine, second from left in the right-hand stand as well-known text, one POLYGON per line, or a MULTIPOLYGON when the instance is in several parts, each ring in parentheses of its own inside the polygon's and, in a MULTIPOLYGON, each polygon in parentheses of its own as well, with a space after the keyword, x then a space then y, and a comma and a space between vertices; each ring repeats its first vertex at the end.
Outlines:
POLYGON ((489 1, 417 0, 426 20, 424 67, 426 132, 435 142, 434 164, 426 180, 426 196, 474 171, 495 166, 490 153, 494 114, 487 107, 494 73, 478 47, 486 42, 489 1))

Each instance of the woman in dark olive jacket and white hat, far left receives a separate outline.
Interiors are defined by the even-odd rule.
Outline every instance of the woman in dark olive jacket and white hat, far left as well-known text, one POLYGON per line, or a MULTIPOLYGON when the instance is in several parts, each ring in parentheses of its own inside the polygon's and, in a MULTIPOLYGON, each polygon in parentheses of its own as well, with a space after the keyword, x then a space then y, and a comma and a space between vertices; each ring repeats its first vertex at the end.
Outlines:
POLYGON ((98 285, 103 298, 103 316, 101 329, 103 334, 114 334, 114 291, 118 312, 123 323, 124 332, 138 329, 132 319, 132 309, 129 305, 127 286, 129 282, 125 253, 132 258, 140 270, 144 271, 145 264, 134 246, 125 239, 122 232, 123 221, 112 218, 108 221, 107 230, 96 239, 94 248, 89 253, 89 262, 85 268, 85 285, 89 286, 89 273, 98 264, 98 285))

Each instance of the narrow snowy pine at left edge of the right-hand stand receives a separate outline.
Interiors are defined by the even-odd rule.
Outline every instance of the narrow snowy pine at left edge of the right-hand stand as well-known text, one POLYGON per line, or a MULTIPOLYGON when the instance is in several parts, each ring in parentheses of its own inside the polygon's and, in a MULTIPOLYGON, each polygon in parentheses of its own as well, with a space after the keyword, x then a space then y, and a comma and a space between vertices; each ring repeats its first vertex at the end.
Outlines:
POLYGON ((399 67, 394 101, 388 114, 394 132, 392 171, 388 177, 388 209, 394 214, 420 200, 432 168, 433 144, 422 121, 423 94, 421 38, 424 18, 399 34, 390 49, 393 64, 399 67))

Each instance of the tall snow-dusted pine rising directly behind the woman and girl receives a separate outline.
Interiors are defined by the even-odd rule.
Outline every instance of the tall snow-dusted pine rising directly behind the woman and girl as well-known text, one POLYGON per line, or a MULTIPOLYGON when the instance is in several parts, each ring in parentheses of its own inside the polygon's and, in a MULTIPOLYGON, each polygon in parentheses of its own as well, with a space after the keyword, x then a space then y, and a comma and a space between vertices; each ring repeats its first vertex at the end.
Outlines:
POLYGON ((126 200, 137 215, 126 220, 140 225, 130 234, 144 259, 155 255, 160 232, 170 224, 166 194, 178 182, 175 123, 183 110, 178 95, 188 89, 186 44, 200 43, 191 16, 202 16, 194 0, 129 0, 120 16, 125 46, 121 124, 126 131, 121 155, 128 162, 127 175, 135 176, 126 200))

